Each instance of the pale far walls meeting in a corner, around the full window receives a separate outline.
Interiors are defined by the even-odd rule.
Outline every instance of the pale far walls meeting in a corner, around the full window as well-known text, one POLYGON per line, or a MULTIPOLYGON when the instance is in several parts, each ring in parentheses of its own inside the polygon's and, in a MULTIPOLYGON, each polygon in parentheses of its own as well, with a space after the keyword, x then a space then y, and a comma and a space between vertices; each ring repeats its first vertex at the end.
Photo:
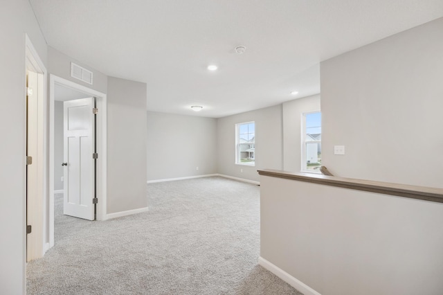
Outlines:
POLYGON ((319 109, 320 95, 315 95, 218 119, 148 111, 147 179, 220 173, 258 181, 258 168, 298 172, 301 117, 319 109), (255 166, 237 165, 235 124, 252 120, 257 129, 255 166))

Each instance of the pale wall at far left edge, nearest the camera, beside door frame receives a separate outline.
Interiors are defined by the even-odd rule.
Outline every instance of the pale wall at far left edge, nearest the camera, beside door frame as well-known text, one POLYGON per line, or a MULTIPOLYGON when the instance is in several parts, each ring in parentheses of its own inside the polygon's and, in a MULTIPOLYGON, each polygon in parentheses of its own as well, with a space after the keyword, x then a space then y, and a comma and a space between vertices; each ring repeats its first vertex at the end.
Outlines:
POLYGON ((46 42, 27 0, 2 1, 0 9, 0 286, 25 291, 25 33, 46 65, 46 42))

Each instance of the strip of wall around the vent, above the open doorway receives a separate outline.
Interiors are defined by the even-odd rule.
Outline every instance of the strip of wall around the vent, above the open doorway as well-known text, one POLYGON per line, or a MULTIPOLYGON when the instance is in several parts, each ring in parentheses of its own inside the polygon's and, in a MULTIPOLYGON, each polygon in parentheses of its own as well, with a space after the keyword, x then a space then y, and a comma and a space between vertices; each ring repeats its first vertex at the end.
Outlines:
POLYGON ((87 64, 83 64, 82 62, 75 60, 73 57, 57 51, 57 49, 52 48, 51 46, 48 46, 48 71, 60 78, 70 80, 84 87, 100 91, 101 93, 107 93, 107 75, 100 73, 96 69, 92 69, 87 64), (92 85, 71 77, 71 62, 74 62, 93 73, 92 85))

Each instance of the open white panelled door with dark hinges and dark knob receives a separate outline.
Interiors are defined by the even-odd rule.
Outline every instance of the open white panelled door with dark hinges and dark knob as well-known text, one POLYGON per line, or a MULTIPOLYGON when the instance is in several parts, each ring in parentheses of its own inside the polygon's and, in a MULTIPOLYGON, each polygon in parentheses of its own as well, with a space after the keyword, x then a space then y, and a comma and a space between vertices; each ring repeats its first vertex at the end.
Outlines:
POLYGON ((63 213, 94 220, 93 98, 64 102, 63 213))

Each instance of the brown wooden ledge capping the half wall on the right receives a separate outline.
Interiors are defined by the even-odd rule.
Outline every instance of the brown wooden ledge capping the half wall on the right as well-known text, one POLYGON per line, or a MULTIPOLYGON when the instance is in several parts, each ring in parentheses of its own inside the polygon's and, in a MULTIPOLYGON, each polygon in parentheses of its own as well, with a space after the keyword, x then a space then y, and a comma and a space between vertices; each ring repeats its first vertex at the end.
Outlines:
POLYGON ((411 199, 422 199, 425 201, 443 203, 443 188, 428 188, 425 186, 408 186, 406 184, 391 184, 382 181, 370 181, 343 177, 332 177, 326 175, 314 175, 310 173, 293 173, 282 170, 263 169, 257 170, 259 175, 291 179, 296 181, 322 184, 325 186, 337 186, 339 188, 350 188, 352 190, 363 190, 366 192, 408 197, 411 199))

